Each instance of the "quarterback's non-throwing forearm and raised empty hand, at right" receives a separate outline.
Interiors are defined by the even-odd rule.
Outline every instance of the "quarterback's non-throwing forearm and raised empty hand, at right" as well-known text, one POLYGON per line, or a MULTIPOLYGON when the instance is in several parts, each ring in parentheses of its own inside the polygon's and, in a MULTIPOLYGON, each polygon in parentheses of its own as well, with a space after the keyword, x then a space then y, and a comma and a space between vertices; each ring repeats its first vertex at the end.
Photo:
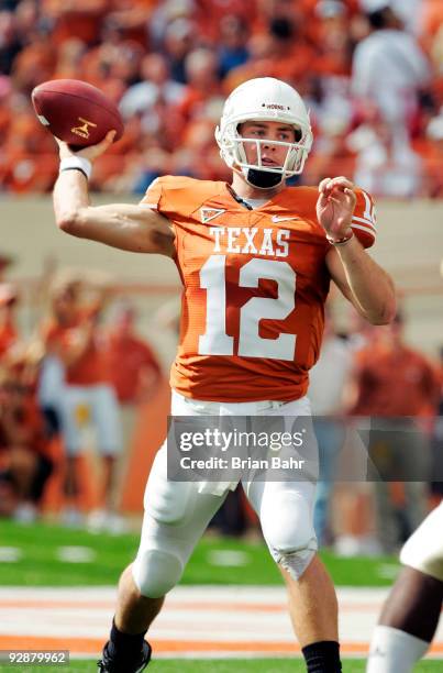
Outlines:
POLYGON ((317 217, 333 245, 326 254, 332 279, 357 311, 373 324, 387 324, 396 313, 396 290, 389 274, 353 234, 354 185, 344 177, 325 178, 319 186, 317 217), (346 240, 348 238, 348 240, 346 240))

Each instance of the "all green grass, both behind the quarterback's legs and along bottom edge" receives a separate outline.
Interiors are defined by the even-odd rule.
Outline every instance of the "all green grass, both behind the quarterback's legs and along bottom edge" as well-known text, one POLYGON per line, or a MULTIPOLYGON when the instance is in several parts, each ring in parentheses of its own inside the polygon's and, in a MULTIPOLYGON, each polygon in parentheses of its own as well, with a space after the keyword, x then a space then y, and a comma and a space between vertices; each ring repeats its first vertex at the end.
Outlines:
MULTIPOLYGON (((0 521, 0 584, 115 585, 123 567, 134 558, 137 544, 136 533, 97 536, 48 523, 23 526, 0 521), (82 549, 85 562, 78 562, 78 559, 77 562, 63 560, 63 550, 66 552, 66 548, 82 549), (15 555, 16 559, 8 560, 8 554, 15 555)), ((394 558, 339 559, 326 552, 322 553, 322 558, 337 586, 387 586, 392 583, 399 570, 394 558)), ((197 547, 181 584, 276 585, 281 584, 281 578, 264 542, 207 537, 197 547), (226 563, 231 552, 234 552, 233 564, 226 563)), ((300 659, 157 660, 148 668, 149 673, 302 673, 304 670, 300 659)), ((363 660, 345 659, 343 662, 344 673, 363 673, 364 670, 363 660)), ((57 668, 0 665, 1 673, 44 671, 93 672, 97 671, 97 664, 96 660, 89 660, 73 661, 69 666, 57 668)), ((414 671, 436 673, 442 671, 442 662, 422 662, 414 671)))

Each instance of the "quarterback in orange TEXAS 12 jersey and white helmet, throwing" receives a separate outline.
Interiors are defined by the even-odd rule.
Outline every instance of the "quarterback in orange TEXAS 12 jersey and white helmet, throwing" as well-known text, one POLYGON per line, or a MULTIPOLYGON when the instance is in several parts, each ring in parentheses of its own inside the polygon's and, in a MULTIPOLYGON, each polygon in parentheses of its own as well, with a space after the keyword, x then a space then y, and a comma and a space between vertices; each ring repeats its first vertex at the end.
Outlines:
MULTIPOLYGON (((330 280, 369 322, 395 315, 392 282, 365 251, 376 235, 374 205, 345 177, 287 187, 303 170, 312 132, 302 99, 284 81, 237 87, 215 139, 231 184, 165 176, 139 206, 101 207, 89 205, 87 178, 112 132, 76 154, 59 143, 56 222, 75 236, 176 264, 184 289, 173 415, 306 417, 330 280)), ((145 633, 229 487, 168 482, 166 446, 158 451, 140 549, 120 580, 99 671, 132 673, 148 663, 145 633)), ((243 487, 285 578, 307 671, 341 671, 336 597, 315 553, 315 484, 252 479, 243 487)))

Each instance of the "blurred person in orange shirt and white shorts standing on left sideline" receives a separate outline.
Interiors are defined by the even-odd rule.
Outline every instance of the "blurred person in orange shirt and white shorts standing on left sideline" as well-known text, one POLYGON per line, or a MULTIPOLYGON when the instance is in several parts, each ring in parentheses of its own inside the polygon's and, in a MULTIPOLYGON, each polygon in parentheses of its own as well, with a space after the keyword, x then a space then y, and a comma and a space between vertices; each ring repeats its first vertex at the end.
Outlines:
POLYGON ((113 511, 117 459, 122 445, 119 406, 110 384, 108 358, 98 327, 101 301, 85 306, 84 289, 82 283, 74 280, 55 293, 53 320, 44 329, 47 356, 42 371, 40 399, 46 416, 49 411, 52 417, 58 416, 60 422, 68 461, 65 484, 69 500, 65 512, 67 522, 79 520, 73 503, 78 493, 77 462, 85 450, 85 430, 92 426, 102 455, 101 499, 106 509, 91 512, 91 525, 113 526, 117 522, 113 511))

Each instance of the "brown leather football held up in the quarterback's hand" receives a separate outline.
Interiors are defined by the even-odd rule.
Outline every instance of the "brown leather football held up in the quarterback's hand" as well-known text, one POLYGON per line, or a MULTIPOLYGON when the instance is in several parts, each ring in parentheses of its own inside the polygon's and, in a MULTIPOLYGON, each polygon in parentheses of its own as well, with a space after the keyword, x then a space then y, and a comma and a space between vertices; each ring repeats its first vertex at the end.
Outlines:
POLYGON ((117 131, 123 135, 123 121, 117 106, 100 89, 78 79, 44 81, 32 91, 40 122, 71 147, 87 147, 117 131))

